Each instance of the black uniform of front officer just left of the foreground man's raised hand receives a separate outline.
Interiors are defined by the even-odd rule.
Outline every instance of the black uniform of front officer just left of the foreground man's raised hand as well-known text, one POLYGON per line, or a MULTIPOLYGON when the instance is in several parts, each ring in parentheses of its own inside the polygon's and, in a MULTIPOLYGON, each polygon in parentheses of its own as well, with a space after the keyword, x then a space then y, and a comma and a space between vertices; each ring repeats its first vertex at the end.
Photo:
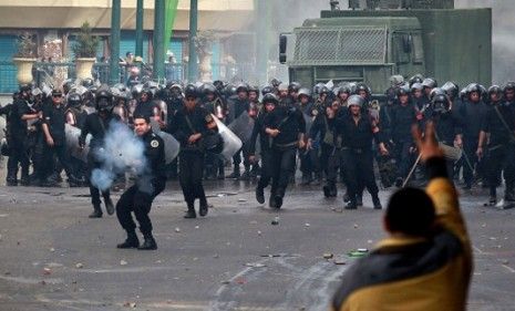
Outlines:
POLYGON ((368 115, 361 115, 356 123, 352 114, 348 113, 336 120, 336 134, 341 138, 349 207, 356 208, 356 198, 362 186, 368 188, 374 206, 379 207, 379 189, 373 174, 372 153, 372 139, 377 143, 382 142, 378 126, 372 124, 368 115))

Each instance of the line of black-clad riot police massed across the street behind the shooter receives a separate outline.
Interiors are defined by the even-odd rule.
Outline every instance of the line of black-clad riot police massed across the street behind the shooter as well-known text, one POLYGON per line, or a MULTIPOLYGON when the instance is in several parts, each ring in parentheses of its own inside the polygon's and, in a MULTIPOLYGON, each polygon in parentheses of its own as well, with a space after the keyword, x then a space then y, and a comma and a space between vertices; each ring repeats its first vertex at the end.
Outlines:
MULTIPOLYGON (((199 178, 260 177, 257 200, 265 201, 264 189, 271 185, 269 205, 276 208, 282 205, 287 185, 295 179, 298 159, 301 185, 323 184, 323 195, 334 197, 341 182, 347 186, 348 208, 362 205, 367 187, 374 208, 380 209, 373 163, 378 164, 383 187, 399 187, 421 178, 423 168, 416 165, 411 127, 415 124, 423 129, 428 122, 434 121, 439 142, 449 155, 447 168, 455 176, 462 174, 464 188, 471 189, 481 182, 490 188, 488 204, 496 204, 496 188, 504 176, 504 199, 514 200, 515 83, 487 90, 471 83, 460 90, 453 82, 437 87, 434 79, 420 74, 408 81, 392 76, 390 82, 387 100, 379 103, 371 100, 370 89, 362 82, 338 85, 328 82, 306 87, 274 79, 259 89, 216 81, 187 85, 187 91, 181 82, 159 85, 147 81, 110 87, 113 101, 110 110, 122 123, 131 125, 134 115, 143 115, 152 120, 155 128, 174 134, 184 129, 177 127, 177 116, 184 121, 184 113, 179 112, 185 108, 188 93, 202 108, 206 124, 212 123, 208 118, 214 115, 243 142, 230 160, 219 151, 204 149, 195 183, 199 178), (226 176, 225 167, 230 164, 233 172, 226 176)), ((66 123, 83 129, 87 115, 99 108, 95 87, 92 81, 66 81, 62 93, 48 87, 20 87, 13 103, 0 111, 8 115, 9 147, 2 148, 10 155, 8 185, 52 186, 60 180, 63 169, 70 186, 86 184, 87 165, 63 152, 65 134, 61 128, 66 123), (49 160, 51 166, 47 165, 49 160)), ((206 124, 195 124, 189 134, 200 133, 206 124)), ((187 122, 183 125, 190 127, 187 122)), ((178 166, 175 160, 166 167, 168 178, 179 177, 178 166)), ((192 197, 185 197, 188 207, 192 206, 192 197)), ((204 196, 197 194, 196 198, 200 199, 205 214, 204 196)), ((109 199, 105 201, 107 206, 109 199)), ((97 200, 93 205, 97 206, 97 200)), ((95 211, 101 215, 96 207, 95 211)))

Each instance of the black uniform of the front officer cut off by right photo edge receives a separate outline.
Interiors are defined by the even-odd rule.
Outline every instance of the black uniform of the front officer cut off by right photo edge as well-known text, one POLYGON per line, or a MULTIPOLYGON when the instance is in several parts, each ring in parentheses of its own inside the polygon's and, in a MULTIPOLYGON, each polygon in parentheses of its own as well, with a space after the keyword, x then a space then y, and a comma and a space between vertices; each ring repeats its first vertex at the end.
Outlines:
POLYGON ((515 200, 515 107, 509 104, 492 106, 486 113, 482 131, 490 133, 486 163, 491 197, 496 196, 498 177, 503 172, 505 199, 515 200))

